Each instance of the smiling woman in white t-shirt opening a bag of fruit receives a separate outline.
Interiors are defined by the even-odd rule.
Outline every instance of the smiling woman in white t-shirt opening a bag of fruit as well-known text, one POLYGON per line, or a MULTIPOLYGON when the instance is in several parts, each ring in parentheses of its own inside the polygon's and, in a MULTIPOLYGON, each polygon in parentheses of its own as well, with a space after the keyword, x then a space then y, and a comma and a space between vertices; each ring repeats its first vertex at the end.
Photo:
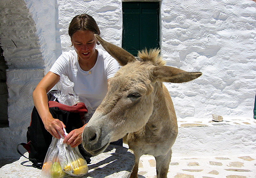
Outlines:
POLYGON ((76 95, 80 99, 86 98, 95 111, 107 93, 108 79, 114 76, 120 66, 107 52, 96 49, 99 43, 94 34, 100 35, 100 30, 93 17, 87 14, 74 17, 68 34, 75 50, 64 52, 56 60, 35 88, 33 99, 45 129, 56 138, 60 138, 60 133, 65 137, 64 143, 76 147, 82 142, 85 125, 65 136, 64 123, 53 118, 49 111, 47 92, 55 86, 62 74, 66 75, 74 83, 76 95))

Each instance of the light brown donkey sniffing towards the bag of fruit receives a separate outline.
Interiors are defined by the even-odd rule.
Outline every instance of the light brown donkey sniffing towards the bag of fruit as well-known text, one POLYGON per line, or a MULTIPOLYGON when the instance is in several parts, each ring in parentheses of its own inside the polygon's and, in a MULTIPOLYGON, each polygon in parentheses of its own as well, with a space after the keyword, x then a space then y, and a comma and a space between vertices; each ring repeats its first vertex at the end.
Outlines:
POLYGON ((188 82, 202 73, 165 66, 158 49, 139 52, 137 60, 97 34, 95 37, 123 67, 110 79, 105 98, 85 126, 85 150, 97 155, 110 142, 128 134, 127 143, 135 155, 130 178, 138 178, 139 158, 143 154, 155 157, 157 178, 166 178, 178 126, 171 96, 163 82, 188 82))

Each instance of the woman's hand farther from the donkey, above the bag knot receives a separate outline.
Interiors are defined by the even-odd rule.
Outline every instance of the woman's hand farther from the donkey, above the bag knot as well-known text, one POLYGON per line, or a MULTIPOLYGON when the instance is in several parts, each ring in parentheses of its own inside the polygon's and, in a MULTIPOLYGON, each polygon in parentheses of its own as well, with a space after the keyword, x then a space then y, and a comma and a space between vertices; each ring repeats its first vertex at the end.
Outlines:
POLYGON ((44 128, 52 134, 53 137, 60 139, 60 135, 65 137, 63 128, 66 126, 59 119, 54 119, 53 117, 48 117, 44 122, 44 128))

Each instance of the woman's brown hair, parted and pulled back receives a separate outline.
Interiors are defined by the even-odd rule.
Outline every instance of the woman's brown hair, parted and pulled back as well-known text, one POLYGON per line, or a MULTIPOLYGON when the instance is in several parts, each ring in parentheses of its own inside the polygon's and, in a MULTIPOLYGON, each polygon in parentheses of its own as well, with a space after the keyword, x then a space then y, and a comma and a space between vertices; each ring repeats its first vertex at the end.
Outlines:
MULTIPOLYGON (((68 35, 72 37, 77 31, 83 30, 91 30, 98 35, 101 33, 96 21, 88 14, 77 15, 72 19, 69 24, 68 35)), ((99 44, 99 42, 97 42, 97 44, 99 44)))

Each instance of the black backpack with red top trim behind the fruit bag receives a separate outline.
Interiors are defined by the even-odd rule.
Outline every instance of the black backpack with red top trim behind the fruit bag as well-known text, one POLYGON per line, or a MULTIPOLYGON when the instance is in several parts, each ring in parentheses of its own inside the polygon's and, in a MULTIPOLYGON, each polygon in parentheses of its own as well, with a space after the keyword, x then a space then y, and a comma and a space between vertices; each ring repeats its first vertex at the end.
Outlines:
MULTIPOLYGON (((58 103, 58 100, 52 95, 50 91, 48 95, 49 99, 49 110, 55 119, 59 119, 66 126, 66 131, 69 133, 74 129, 81 128, 84 124, 82 122, 82 118, 85 113, 88 112, 84 103, 77 103, 73 106, 67 106, 64 104, 58 103), (56 101, 52 101, 56 100, 56 101)), ((29 153, 29 161, 33 164, 32 166, 35 168, 42 169, 43 161, 46 156, 47 150, 52 142, 52 135, 44 128, 43 121, 40 118, 36 108, 33 108, 31 114, 31 123, 27 128, 27 143, 20 143, 29 153)), ((17 151, 23 157, 25 157, 19 151, 19 145, 17 145, 17 151)), ((82 145, 78 145, 80 152, 83 152, 82 145)), ((83 153, 81 153, 83 155, 83 153)), ((88 155, 83 155, 83 157, 87 157, 88 155)), ((90 156, 89 156, 90 157, 90 156)))

